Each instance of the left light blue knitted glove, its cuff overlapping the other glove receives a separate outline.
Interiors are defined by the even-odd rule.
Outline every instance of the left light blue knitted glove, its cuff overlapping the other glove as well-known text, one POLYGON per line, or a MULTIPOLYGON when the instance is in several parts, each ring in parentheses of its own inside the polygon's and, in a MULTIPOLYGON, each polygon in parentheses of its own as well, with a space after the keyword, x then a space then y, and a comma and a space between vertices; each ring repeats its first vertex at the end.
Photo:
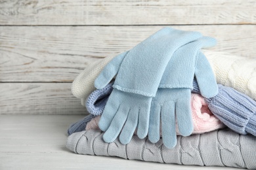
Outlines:
POLYGON ((127 144, 136 127, 138 137, 146 137, 152 97, 169 59, 179 47, 200 37, 198 32, 165 27, 106 65, 95 80, 95 87, 100 89, 116 75, 99 122, 100 129, 106 131, 104 141, 113 142, 121 132, 119 139, 127 144))

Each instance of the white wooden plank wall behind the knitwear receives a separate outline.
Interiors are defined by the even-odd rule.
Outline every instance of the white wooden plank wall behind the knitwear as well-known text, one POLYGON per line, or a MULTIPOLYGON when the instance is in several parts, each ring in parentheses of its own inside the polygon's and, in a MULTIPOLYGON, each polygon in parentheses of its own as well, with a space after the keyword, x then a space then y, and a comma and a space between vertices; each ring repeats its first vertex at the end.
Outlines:
POLYGON ((85 114, 72 80, 170 25, 256 57, 256 1, 0 0, 0 114, 85 114))

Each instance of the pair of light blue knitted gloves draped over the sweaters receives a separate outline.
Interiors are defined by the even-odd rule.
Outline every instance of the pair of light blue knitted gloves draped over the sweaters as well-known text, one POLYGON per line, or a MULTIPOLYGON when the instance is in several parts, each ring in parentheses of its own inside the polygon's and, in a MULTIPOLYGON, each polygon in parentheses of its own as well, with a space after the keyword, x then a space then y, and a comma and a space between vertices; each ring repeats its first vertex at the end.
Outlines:
POLYGON ((106 143, 119 135, 122 144, 137 135, 148 135, 152 143, 160 139, 173 148, 176 126, 188 136, 193 131, 190 95, 194 75, 203 97, 214 97, 218 87, 207 59, 200 48, 216 44, 201 33, 165 27, 127 52, 112 59, 95 80, 104 88, 116 76, 99 127, 106 143))

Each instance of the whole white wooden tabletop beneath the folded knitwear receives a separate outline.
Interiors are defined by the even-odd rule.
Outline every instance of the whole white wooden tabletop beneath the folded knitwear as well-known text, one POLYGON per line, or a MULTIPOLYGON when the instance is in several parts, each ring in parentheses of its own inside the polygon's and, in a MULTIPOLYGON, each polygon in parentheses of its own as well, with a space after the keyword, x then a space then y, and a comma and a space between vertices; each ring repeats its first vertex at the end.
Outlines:
POLYGON ((70 152, 66 130, 83 116, 0 115, 0 169, 207 169, 70 152))

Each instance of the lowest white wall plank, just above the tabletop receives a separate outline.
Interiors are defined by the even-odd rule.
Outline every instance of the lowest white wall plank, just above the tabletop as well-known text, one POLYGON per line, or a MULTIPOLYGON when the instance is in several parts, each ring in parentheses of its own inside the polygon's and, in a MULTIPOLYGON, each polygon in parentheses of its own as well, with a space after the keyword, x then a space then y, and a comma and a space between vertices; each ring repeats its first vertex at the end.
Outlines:
POLYGON ((71 83, 0 83, 0 114, 87 114, 71 83))

